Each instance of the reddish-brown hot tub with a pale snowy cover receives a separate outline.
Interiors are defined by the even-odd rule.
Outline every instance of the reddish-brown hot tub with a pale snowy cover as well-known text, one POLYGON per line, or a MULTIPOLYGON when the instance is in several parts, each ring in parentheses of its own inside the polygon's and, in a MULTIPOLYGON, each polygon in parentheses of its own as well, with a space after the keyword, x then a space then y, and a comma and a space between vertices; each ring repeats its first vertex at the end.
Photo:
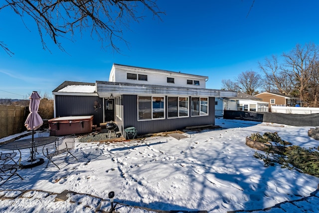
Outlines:
POLYGON ((48 123, 50 136, 90 133, 92 132, 93 115, 53 118, 48 123))

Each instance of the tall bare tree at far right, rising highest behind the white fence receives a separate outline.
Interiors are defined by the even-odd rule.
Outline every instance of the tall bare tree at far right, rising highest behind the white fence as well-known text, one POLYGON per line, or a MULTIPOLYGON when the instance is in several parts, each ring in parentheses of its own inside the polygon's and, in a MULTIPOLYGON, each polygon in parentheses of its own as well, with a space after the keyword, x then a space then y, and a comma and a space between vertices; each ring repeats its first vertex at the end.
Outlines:
POLYGON ((317 70, 319 49, 314 43, 297 44, 290 53, 283 53, 284 70, 292 78, 293 86, 304 101, 306 89, 317 70))

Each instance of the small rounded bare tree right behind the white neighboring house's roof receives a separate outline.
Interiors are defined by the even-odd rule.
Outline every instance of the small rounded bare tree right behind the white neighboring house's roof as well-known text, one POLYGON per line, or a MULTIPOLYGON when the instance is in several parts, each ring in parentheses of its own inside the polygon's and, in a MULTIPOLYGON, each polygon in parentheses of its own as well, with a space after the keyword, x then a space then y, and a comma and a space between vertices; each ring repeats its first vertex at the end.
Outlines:
POLYGON ((255 95, 261 84, 261 76, 255 71, 245 71, 238 75, 236 82, 242 92, 255 95))

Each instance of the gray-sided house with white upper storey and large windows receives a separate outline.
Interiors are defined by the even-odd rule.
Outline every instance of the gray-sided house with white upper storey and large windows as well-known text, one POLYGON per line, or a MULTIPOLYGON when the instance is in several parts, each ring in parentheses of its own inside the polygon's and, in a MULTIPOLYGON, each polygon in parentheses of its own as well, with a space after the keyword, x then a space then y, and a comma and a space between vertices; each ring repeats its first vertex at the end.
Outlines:
POLYGON ((53 90, 54 116, 93 115, 115 121, 122 135, 139 135, 215 124, 215 98, 236 92, 206 89, 207 76, 113 64, 109 81, 65 81, 53 90))

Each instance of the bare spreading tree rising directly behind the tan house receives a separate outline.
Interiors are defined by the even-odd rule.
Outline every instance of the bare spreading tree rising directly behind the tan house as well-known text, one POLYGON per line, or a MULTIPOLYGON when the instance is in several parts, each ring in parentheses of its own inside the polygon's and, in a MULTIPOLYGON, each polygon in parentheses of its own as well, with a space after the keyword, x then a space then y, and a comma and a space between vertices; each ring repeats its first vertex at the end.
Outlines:
POLYGON ((259 63, 259 68, 264 72, 263 79, 264 89, 267 92, 279 92, 284 95, 290 95, 293 91, 292 77, 282 69, 278 64, 277 56, 273 55, 272 58, 265 58, 264 64, 259 63))

